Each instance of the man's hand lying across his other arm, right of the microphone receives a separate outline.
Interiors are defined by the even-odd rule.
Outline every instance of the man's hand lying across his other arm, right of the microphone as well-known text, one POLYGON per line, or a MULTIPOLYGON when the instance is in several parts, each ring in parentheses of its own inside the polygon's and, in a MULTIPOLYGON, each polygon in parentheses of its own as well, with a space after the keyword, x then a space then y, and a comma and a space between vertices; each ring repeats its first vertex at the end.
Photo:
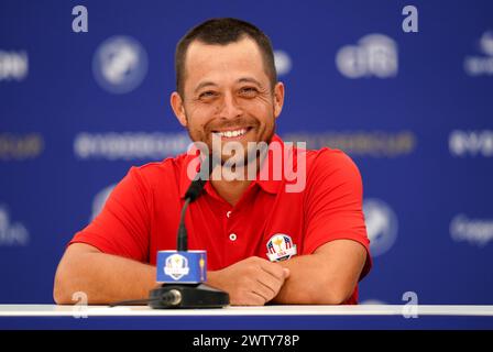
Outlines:
POLYGON ((207 276, 210 286, 229 294, 232 306, 263 306, 277 296, 289 270, 251 256, 207 276))

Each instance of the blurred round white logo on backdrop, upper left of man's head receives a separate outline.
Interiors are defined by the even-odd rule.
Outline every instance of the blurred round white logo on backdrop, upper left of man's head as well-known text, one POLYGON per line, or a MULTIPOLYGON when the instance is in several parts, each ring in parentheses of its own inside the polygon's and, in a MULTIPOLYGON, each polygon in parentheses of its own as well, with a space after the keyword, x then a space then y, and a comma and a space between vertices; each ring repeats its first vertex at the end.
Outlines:
POLYGON ((129 36, 112 36, 96 51, 92 59, 96 80, 113 94, 132 91, 147 73, 147 54, 129 36))

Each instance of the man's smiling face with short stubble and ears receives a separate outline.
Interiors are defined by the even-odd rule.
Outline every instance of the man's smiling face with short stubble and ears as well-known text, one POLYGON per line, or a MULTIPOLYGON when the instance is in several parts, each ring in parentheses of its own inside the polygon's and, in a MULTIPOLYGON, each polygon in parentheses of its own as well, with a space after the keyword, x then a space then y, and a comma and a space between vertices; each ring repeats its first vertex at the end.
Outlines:
POLYGON ((222 144, 240 142, 246 151, 248 142, 271 141, 284 87, 280 82, 272 89, 254 41, 245 37, 228 45, 193 42, 184 79, 184 97, 174 92, 172 106, 194 142, 212 150, 212 134, 217 133, 222 144))

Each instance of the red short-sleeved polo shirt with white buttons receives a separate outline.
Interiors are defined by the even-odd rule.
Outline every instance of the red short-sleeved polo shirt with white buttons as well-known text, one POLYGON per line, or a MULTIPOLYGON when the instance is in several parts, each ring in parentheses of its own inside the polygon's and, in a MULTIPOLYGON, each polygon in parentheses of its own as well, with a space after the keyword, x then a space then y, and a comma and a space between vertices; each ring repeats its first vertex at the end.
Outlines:
MULTIPOLYGON (((284 151, 285 145, 275 135, 284 151)), ((270 152, 271 146, 270 146, 270 152)), ((293 160, 304 153, 306 185, 286 191, 291 177, 253 180, 238 204, 223 200, 209 182, 186 215, 188 249, 206 250, 207 266, 216 271, 249 256, 267 258, 275 234, 291 238, 297 255, 339 239, 361 243, 369 255, 360 279, 372 261, 362 212, 362 183, 358 167, 342 152, 292 148, 293 160)), ((176 231, 184 195, 190 184, 187 166, 195 156, 182 154, 158 163, 132 167, 108 198, 101 213, 72 243, 90 244, 105 253, 155 265, 156 252, 176 250, 176 231)), ((195 160, 196 162, 196 160, 195 160)), ((271 252, 272 253, 272 252, 271 252)), ((358 287, 347 304, 358 302, 358 287)))

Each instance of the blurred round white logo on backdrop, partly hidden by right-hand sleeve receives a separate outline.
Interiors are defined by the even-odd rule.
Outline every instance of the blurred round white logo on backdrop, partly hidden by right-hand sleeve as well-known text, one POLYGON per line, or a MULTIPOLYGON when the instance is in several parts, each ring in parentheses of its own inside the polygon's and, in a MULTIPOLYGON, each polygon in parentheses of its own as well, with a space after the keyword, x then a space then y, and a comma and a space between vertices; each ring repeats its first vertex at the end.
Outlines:
POLYGON ((394 210, 380 199, 364 200, 363 212, 372 256, 382 255, 397 239, 397 217, 394 210))

